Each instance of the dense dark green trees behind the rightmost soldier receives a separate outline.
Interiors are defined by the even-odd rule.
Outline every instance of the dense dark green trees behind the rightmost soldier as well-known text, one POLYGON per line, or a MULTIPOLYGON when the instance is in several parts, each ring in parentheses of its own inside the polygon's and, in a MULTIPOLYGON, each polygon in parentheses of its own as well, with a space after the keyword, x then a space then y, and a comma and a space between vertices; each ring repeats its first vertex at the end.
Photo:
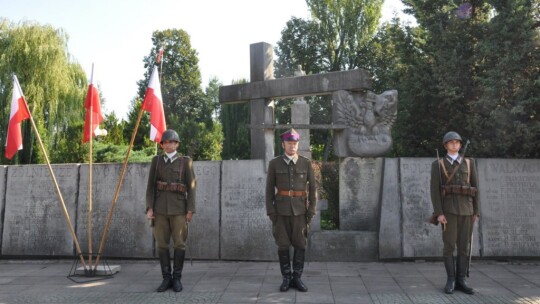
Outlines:
POLYGON ((476 157, 537 157, 539 32, 531 1, 406 0, 418 27, 400 85, 401 156, 432 156, 448 130, 476 157), (414 82, 411 82, 414 80, 414 82), (429 115, 426 115, 429 113, 429 115), (419 127, 421 126, 421 127, 419 127))

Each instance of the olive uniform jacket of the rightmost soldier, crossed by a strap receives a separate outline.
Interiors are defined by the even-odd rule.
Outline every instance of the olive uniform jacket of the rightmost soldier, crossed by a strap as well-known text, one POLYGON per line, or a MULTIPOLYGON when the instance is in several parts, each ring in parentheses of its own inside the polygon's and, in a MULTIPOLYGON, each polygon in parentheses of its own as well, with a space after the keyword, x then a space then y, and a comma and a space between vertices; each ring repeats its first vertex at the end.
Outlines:
MULTIPOLYGON (((448 176, 452 174, 455 167, 459 166, 459 162, 454 161, 453 163, 451 163, 451 161, 452 160, 448 155, 442 159, 442 163, 446 168, 448 176)), ((469 164, 470 168, 468 168, 467 162, 462 160, 460 168, 450 181, 449 185, 460 185, 478 188, 476 161, 474 161, 474 159, 470 159, 469 164), (471 172, 468 172, 469 169, 471 172), (469 182, 467 180, 469 180, 469 182)), ((443 198, 441 196, 441 184, 444 185, 446 184, 446 182, 447 177, 444 173, 444 169, 441 167, 441 171, 439 174, 439 161, 434 161, 431 165, 430 188, 431 202, 433 204, 433 211, 435 215, 480 215, 480 197, 478 192, 475 196, 452 193, 446 194, 443 198), (440 177, 442 177, 442 183, 440 177)))

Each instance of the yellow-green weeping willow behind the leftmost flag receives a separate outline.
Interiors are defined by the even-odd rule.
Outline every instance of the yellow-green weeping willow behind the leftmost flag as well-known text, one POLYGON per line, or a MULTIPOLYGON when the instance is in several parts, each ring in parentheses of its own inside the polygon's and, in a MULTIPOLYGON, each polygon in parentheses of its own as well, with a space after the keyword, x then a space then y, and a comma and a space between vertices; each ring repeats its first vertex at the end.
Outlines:
MULTIPOLYGON (((86 76, 67 53, 67 34, 33 22, 0 19, 0 118, 7 122, 13 82, 17 75, 47 153, 57 151, 67 125, 83 119, 86 76)), ((7 123, 0 125, 5 138, 7 123)), ((29 123, 23 123, 23 146, 7 163, 41 163, 44 157, 29 123)), ((0 145, 4 154, 5 145, 0 145)), ((6 160, 2 160, 6 163, 6 160)))

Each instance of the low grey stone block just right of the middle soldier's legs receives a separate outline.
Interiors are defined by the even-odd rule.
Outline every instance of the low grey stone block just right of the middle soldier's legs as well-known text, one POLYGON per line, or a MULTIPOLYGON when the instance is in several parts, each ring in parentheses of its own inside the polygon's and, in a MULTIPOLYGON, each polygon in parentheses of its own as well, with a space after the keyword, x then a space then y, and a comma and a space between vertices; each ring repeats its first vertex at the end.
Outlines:
POLYGON ((311 261, 360 262, 377 259, 377 233, 369 231, 319 231, 308 241, 311 261))

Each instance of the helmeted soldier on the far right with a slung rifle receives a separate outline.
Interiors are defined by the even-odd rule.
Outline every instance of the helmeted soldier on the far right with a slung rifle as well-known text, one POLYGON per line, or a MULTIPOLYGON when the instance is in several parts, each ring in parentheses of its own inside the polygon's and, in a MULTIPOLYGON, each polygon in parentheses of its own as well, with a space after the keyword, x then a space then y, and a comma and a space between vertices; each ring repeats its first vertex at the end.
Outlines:
POLYGON ((456 132, 443 137, 447 155, 431 166, 431 202, 443 226, 443 258, 447 281, 444 291, 474 291, 465 279, 474 223, 480 217, 476 162, 459 155, 462 139, 456 132), (457 247, 457 259, 454 250, 457 247))

